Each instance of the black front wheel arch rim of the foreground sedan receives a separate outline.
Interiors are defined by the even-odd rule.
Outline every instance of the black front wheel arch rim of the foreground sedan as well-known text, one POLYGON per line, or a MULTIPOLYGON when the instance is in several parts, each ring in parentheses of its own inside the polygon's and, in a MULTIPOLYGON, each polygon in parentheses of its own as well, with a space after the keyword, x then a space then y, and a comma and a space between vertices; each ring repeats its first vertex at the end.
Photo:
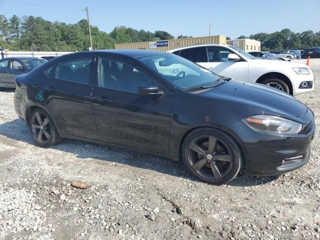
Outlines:
POLYGON ((201 129, 201 128, 212 128, 212 129, 217 129, 217 130, 220 130, 226 134, 228 134, 229 136, 231 136, 235 142, 240 146, 240 149, 242 151, 242 156, 243 156, 243 164, 245 164, 246 162, 246 158, 245 156, 247 155, 246 154, 246 149, 244 147, 244 144, 242 143, 241 139, 231 130, 228 130, 227 128, 225 127, 215 127, 215 126, 194 126, 194 127, 191 127, 190 129, 188 129, 186 132, 184 132, 184 134, 182 135, 182 137, 180 138, 180 141, 179 141, 179 149, 178 149, 178 159, 181 160, 182 159, 182 145, 183 145, 183 142, 185 140, 185 138, 194 130, 196 129, 201 129))

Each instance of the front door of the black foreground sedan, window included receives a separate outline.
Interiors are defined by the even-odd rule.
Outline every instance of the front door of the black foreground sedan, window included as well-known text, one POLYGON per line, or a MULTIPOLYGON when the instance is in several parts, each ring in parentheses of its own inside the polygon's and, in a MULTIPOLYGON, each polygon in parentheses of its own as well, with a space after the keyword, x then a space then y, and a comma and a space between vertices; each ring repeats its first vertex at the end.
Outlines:
POLYGON ((101 141, 167 154, 169 91, 130 62, 100 56, 92 106, 101 141), (159 97, 137 94, 140 85, 157 85, 159 97))

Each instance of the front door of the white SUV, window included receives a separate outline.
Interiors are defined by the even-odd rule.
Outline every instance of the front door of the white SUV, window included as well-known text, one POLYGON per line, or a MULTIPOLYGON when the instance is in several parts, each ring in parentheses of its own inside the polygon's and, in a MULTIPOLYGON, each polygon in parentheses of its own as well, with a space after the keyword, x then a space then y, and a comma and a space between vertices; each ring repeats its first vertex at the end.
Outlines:
MULTIPOLYGON (((223 46, 207 47, 208 62, 204 67, 221 76, 236 80, 248 80, 248 62, 241 58, 239 61, 228 60, 228 54, 236 52, 223 46)), ((238 55, 238 54, 237 54, 238 55)))

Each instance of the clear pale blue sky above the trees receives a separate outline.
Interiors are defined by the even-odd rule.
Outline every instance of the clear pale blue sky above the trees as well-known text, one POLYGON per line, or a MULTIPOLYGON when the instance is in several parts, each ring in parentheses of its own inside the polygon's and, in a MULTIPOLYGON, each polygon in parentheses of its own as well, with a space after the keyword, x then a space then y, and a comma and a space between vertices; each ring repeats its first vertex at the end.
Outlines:
POLYGON ((211 35, 233 39, 283 28, 320 31, 320 0, 0 0, 0 14, 76 23, 86 18, 85 6, 90 24, 105 32, 125 25, 174 37, 207 36, 212 24, 211 35))

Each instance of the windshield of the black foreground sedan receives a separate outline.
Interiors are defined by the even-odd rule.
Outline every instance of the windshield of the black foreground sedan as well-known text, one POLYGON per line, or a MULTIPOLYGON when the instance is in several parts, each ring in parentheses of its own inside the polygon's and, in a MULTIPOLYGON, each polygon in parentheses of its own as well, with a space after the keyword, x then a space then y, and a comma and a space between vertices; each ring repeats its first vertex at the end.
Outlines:
POLYGON ((182 89, 214 85, 220 79, 204 67, 172 53, 139 56, 136 59, 182 89))

